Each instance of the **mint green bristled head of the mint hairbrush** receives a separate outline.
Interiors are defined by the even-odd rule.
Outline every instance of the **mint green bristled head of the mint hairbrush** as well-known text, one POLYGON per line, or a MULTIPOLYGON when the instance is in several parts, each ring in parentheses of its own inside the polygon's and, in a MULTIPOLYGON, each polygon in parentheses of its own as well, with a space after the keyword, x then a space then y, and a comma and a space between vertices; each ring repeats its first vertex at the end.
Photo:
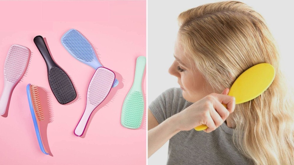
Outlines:
POLYGON ((126 128, 140 127, 144 112, 142 92, 130 91, 123 103, 121 124, 126 128))

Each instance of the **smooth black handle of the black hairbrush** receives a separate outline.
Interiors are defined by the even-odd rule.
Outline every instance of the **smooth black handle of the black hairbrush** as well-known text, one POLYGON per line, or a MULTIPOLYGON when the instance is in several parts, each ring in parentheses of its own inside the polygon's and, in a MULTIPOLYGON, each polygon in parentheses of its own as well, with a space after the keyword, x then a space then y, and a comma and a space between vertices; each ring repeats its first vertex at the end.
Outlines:
POLYGON ((42 36, 36 36, 34 38, 34 43, 36 44, 37 48, 39 49, 41 55, 43 56, 43 58, 46 62, 48 72, 52 67, 59 68, 58 65, 56 65, 56 63, 53 61, 53 59, 49 53, 49 50, 45 44, 44 38, 42 36))

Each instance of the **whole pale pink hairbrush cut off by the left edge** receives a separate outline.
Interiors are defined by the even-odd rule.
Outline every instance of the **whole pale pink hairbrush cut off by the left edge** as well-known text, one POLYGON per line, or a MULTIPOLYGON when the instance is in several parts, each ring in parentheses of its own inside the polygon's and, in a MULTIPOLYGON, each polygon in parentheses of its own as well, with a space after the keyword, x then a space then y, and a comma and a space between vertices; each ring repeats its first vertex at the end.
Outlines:
POLYGON ((4 63, 4 87, 0 99, 0 115, 6 112, 15 86, 24 76, 29 65, 31 51, 21 45, 12 45, 4 63))

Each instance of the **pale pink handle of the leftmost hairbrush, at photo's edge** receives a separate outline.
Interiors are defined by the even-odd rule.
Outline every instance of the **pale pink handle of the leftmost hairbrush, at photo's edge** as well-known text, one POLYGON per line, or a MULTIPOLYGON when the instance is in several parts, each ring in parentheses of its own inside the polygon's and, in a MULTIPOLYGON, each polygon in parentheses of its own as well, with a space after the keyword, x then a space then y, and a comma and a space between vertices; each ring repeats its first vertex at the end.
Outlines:
POLYGON ((9 98, 15 83, 4 80, 4 88, 0 99, 0 115, 4 115, 9 104, 9 98))

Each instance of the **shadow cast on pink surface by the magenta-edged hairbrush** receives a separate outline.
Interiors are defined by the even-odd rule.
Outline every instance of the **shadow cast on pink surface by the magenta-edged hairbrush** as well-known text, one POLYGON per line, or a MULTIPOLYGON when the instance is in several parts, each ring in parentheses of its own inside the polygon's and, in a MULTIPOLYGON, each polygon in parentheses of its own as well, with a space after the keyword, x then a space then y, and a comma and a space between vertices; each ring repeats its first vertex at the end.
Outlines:
MULTIPOLYGON (((114 71, 113 71, 113 72, 114 72, 114 71)), ((122 80, 122 76, 121 76, 121 74, 119 74, 119 73, 117 73, 117 72, 114 72, 114 73, 115 73, 116 79, 118 79, 118 80, 122 80)), ((103 100, 103 102, 101 102, 101 104, 98 105, 98 106, 95 108, 95 110, 93 110, 93 112, 91 113, 90 118, 89 118, 89 120, 88 120, 88 124, 86 125, 85 131, 84 131, 83 135, 80 136, 81 138, 85 138, 85 137, 86 137, 86 133, 87 133, 87 131, 88 131, 88 128, 89 128, 89 126, 90 126, 90 123, 91 123, 91 121, 92 121, 94 115, 98 112, 99 109, 101 109, 102 107, 107 106, 109 103, 113 102, 113 100, 114 100, 115 97, 117 96, 117 91, 118 91, 119 89, 121 89, 121 88, 123 88, 123 83, 122 83, 122 82, 118 83, 118 85, 117 85, 116 87, 111 88, 111 90, 110 90, 108 96, 105 98, 105 100, 103 100)))

